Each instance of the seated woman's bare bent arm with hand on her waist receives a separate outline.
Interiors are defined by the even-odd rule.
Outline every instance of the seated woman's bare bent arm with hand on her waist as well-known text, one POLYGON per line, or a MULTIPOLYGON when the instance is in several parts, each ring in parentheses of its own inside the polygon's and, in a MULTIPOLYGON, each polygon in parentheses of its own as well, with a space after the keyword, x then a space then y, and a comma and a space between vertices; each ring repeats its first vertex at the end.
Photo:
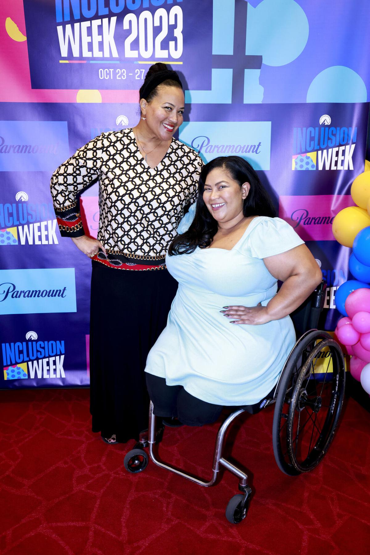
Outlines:
POLYGON ((229 315, 235 324, 266 324, 287 316, 307 299, 322 280, 321 270, 306 245, 268 256, 263 262, 270 274, 283 284, 267 306, 229 306, 225 316, 229 315))

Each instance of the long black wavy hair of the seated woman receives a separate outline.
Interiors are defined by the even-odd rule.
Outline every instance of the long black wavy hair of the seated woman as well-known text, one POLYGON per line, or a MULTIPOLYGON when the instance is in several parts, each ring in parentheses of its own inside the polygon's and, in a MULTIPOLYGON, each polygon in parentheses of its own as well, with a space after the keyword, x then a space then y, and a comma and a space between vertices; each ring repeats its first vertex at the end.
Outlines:
POLYGON ((270 216, 270 218, 273 218, 276 215, 270 195, 261 184, 259 176, 252 166, 240 156, 220 156, 203 166, 199 177, 194 220, 185 233, 178 235, 172 241, 168 250, 170 256, 190 254, 194 252, 197 246, 205 249, 212 243, 218 225, 205 205, 203 192, 207 175, 216 168, 226 170, 240 186, 243 183, 250 184, 249 194, 243 203, 243 214, 246 218, 248 216, 270 216))

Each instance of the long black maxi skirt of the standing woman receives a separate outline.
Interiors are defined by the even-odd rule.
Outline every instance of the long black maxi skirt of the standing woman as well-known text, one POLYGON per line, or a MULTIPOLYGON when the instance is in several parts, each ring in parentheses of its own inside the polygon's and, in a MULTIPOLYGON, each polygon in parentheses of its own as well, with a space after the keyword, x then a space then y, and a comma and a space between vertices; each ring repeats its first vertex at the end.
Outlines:
POLYGON ((90 412, 93 432, 126 442, 148 428, 145 363, 166 326, 178 282, 166 269, 92 262, 90 412))

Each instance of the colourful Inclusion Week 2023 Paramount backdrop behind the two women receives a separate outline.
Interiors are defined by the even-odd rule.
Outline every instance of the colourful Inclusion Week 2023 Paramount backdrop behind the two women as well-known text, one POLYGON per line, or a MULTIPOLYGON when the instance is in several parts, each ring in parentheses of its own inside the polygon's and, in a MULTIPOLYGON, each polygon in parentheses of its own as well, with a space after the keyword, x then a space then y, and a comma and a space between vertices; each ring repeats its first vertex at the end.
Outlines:
MULTIPOLYGON (((91 263, 60 237, 50 176, 96 135, 138 122, 138 89, 155 61, 183 80, 180 140, 205 161, 249 160, 306 241, 327 282, 322 327, 334 330, 350 249, 331 224, 354 204, 369 112, 370 7, 355 3, 1 4, 0 388, 89 385, 91 263)), ((94 237, 97 183, 80 204, 94 237)))

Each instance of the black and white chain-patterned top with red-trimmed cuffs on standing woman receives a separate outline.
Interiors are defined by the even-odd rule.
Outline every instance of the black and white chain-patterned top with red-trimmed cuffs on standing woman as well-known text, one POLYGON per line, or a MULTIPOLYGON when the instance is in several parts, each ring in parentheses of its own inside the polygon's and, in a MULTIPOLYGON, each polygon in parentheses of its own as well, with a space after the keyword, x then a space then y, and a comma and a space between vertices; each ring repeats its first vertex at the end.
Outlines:
POLYGON ((99 179, 98 239, 111 255, 163 259, 184 206, 194 202, 202 167, 199 154, 172 139, 154 169, 132 129, 102 133, 53 173, 50 189, 60 234, 84 235, 77 195, 99 179))

